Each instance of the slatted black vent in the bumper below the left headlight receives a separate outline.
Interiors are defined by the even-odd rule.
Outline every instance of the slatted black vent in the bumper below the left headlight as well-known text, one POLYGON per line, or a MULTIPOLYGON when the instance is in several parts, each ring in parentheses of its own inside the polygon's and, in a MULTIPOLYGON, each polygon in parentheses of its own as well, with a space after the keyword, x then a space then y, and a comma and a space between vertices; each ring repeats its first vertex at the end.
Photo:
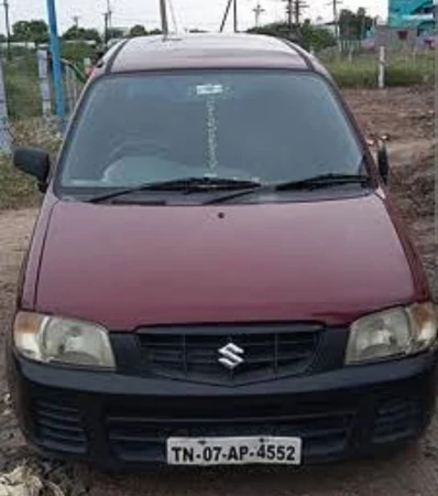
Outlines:
POLYGON ((39 444, 69 453, 86 452, 86 435, 77 408, 59 399, 35 399, 33 413, 39 444))

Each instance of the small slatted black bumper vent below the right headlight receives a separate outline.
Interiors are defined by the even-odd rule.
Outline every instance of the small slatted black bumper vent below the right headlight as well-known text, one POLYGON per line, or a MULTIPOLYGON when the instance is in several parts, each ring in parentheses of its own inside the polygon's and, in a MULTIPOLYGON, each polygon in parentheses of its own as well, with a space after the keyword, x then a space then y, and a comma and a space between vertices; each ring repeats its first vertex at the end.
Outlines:
POLYGON ((398 441, 415 435, 421 427, 421 406, 416 398, 393 398, 379 403, 374 443, 398 441))

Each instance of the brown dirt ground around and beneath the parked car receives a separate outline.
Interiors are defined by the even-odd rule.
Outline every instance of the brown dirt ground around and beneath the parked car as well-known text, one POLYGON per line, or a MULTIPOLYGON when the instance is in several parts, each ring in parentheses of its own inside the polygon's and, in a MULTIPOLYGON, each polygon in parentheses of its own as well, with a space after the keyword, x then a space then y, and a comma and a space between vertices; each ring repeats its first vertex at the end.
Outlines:
MULTIPOLYGON (((369 138, 388 137, 391 188, 438 300, 434 90, 430 87, 344 94, 369 138)), ((35 215, 34 209, 0 212, 0 348, 4 342, 2 332, 8 330, 13 312, 18 271, 35 215)), ((0 472, 31 456, 8 405, 2 357, 0 354, 0 472)), ((75 478, 66 490, 75 496, 437 496, 438 419, 418 444, 391 459, 324 467, 161 470, 114 476, 85 466, 42 465, 52 474, 57 471, 58 478, 59 471, 66 479, 75 478)))

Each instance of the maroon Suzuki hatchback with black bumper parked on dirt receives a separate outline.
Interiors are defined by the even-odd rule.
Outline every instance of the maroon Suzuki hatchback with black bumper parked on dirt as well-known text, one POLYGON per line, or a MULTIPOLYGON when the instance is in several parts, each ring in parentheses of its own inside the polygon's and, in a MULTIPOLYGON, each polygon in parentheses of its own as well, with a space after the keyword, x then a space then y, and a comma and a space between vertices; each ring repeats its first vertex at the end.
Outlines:
POLYGON ((416 439, 437 385, 417 254, 336 85, 287 41, 124 41, 56 164, 9 377, 41 452, 311 464, 416 439))

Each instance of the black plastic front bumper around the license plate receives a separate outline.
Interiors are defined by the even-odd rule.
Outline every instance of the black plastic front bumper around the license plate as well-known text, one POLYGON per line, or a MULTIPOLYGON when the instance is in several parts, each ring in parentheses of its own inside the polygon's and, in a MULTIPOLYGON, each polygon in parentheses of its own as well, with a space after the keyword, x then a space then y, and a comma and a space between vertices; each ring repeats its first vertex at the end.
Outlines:
POLYGON ((11 356, 20 425, 44 454, 166 463, 168 436, 303 438, 303 463, 379 452, 430 421, 437 354, 239 387, 72 370, 11 356))

